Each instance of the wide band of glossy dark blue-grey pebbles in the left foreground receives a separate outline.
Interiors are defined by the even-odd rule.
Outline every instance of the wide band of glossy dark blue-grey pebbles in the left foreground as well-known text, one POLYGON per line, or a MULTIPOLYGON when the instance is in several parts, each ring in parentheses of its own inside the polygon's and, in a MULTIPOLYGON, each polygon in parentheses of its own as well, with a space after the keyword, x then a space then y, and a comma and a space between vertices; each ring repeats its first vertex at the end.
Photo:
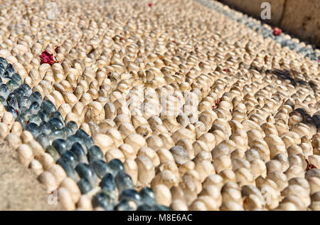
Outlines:
POLYGON ((100 147, 75 122, 65 125, 60 112, 41 93, 33 92, 14 72, 13 66, 0 57, 0 103, 28 130, 46 152, 77 182, 82 194, 98 185, 100 192, 92 198, 92 206, 107 211, 166 211, 156 204, 154 192, 144 187, 134 189, 132 178, 124 172, 119 159, 105 162, 100 147), (98 183, 98 178, 101 181, 98 183), (119 196, 118 194, 119 193, 119 196), (130 204, 134 202, 137 207, 130 204))

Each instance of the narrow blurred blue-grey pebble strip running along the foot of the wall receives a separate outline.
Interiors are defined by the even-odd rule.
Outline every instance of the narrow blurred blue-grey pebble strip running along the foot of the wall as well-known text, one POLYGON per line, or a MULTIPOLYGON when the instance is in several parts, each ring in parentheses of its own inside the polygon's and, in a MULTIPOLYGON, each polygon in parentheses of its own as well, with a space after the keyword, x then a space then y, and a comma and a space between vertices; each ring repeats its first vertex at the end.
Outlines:
POLYGON ((261 33, 264 38, 272 38, 277 43, 281 44, 282 47, 287 46, 290 50, 295 51, 297 53, 302 54, 303 56, 310 58, 312 61, 318 61, 320 60, 320 53, 316 53, 313 48, 306 48, 302 46, 300 43, 294 43, 292 39, 286 38, 284 34, 280 36, 274 36, 273 31, 270 28, 266 28, 261 23, 258 23, 256 19, 253 19, 250 16, 242 14, 242 16, 233 13, 233 9, 230 9, 230 11, 227 11, 223 9, 220 4, 215 2, 214 0, 194 0, 198 1, 198 3, 203 4, 204 6, 207 6, 209 9, 213 9, 215 11, 218 11, 220 14, 223 14, 227 16, 230 19, 233 19, 234 21, 237 21, 238 23, 242 23, 248 28, 252 29, 253 31, 256 31, 257 33, 261 33))

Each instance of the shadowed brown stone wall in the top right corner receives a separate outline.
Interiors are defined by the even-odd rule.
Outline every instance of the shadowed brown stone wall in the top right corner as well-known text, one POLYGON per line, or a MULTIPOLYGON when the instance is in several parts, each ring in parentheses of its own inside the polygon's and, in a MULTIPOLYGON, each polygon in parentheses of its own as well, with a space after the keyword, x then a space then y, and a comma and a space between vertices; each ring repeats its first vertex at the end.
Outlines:
POLYGON ((260 18, 262 2, 271 4, 271 23, 284 31, 320 46, 319 0, 223 0, 251 16, 260 18))

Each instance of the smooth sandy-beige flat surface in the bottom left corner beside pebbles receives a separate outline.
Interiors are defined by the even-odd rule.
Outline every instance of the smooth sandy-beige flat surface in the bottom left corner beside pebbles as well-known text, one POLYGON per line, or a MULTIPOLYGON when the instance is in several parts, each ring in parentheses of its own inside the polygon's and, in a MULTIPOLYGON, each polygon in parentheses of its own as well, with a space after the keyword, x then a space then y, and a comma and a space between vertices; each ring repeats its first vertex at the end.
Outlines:
POLYGON ((46 189, 31 169, 20 162, 16 152, 0 143, 0 210, 61 210, 48 204, 46 189))

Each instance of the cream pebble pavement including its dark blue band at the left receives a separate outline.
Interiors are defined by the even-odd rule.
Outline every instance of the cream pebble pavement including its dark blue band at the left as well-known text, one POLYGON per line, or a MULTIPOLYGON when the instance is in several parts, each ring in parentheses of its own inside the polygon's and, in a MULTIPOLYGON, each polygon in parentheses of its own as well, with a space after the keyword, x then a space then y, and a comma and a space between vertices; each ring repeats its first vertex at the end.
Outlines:
POLYGON ((316 51, 215 2, 14 4, 0 138, 65 209, 319 210, 316 51))

